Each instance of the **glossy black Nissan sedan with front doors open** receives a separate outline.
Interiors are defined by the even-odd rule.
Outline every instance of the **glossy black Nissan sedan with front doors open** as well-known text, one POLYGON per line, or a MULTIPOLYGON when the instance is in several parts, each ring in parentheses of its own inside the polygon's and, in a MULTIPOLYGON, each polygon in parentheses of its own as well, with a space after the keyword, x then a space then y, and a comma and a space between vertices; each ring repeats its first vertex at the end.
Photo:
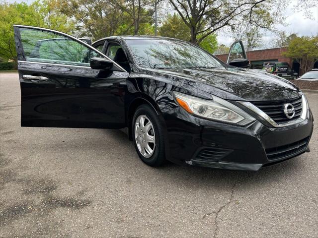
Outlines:
POLYGON ((91 46, 21 25, 14 36, 22 126, 128 127, 151 166, 258 170, 309 151, 305 95, 278 76, 232 66, 244 63, 242 47, 229 65, 163 37, 114 36, 91 46))

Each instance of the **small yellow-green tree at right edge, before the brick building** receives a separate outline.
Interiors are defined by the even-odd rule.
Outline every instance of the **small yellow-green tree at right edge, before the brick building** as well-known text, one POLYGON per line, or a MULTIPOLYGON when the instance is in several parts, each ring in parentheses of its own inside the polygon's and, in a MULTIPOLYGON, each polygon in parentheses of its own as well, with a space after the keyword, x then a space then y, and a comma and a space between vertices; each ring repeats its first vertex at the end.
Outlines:
POLYGON ((318 36, 295 37, 290 41, 284 56, 295 59, 300 64, 301 74, 309 71, 318 61, 318 36))

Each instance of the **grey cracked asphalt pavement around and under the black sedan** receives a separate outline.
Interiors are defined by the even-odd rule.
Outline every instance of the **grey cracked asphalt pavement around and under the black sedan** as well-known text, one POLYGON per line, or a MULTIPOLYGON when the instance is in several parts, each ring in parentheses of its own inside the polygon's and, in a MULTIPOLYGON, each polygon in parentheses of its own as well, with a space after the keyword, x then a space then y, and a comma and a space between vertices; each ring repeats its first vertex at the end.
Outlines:
POLYGON ((152 168, 121 130, 20 127, 18 76, 0 73, 0 237, 317 238, 317 132, 258 172, 152 168))

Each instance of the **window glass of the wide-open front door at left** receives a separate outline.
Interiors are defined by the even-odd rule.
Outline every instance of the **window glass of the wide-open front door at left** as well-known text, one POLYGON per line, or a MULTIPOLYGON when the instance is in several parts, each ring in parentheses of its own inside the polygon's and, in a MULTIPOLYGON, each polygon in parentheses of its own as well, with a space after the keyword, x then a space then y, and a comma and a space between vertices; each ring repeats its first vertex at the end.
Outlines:
POLYGON ((20 28, 26 61, 89 66, 98 52, 64 35, 30 28, 20 28))

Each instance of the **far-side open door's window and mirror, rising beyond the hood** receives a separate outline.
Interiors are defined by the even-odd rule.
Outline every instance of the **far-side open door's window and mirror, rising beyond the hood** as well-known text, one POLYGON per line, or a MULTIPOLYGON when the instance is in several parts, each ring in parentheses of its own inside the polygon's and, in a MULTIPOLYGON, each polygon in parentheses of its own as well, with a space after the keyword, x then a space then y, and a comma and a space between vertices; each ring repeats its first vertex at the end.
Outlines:
POLYGON ((243 43, 241 41, 236 41, 231 46, 227 64, 241 68, 250 67, 243 43))

